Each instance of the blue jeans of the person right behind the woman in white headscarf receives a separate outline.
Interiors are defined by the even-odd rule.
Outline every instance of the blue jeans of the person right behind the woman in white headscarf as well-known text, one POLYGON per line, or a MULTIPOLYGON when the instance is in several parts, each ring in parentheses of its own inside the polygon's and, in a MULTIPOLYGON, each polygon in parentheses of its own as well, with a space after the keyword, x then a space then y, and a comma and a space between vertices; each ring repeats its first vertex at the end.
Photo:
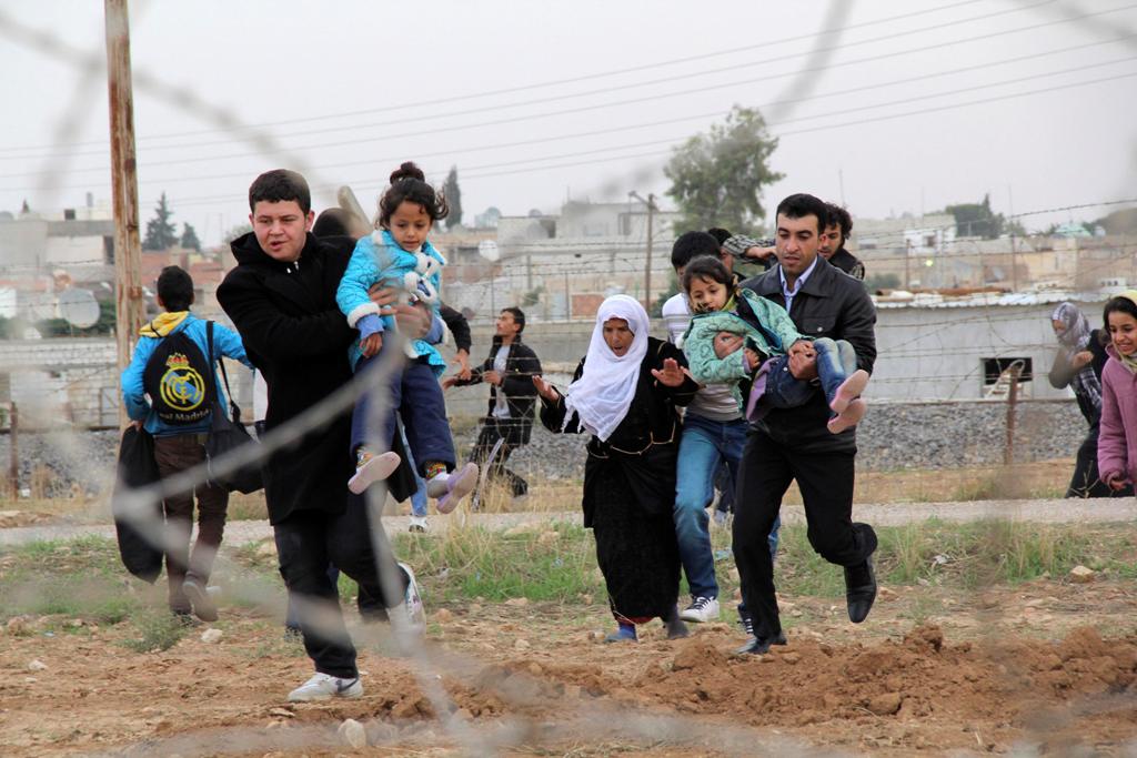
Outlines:
MULTIPOLYGON (((714 498, 714 475, 725 463, 731 480, 738 478, 738 465, 746 447, 749 424, 739 418, 715 422, 695 414, 683 419, 683 436, 679 442, 675 478, 675 536, 679 559, 687 574, 687 585, 696 598, 717 598, 719 582, 714 575, 711 549, 711 520, 707 505, 714 498)), ((778 550, 778 528, 770 533, 770 553, 778 550)))

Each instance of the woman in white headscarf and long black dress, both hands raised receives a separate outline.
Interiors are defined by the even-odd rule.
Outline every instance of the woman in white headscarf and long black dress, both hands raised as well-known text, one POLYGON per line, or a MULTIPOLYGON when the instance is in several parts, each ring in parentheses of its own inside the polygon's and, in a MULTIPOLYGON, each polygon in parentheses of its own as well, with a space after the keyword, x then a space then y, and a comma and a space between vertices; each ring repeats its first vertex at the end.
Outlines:
POLYGON ((691 401, 698 384, 683 372, 683 353, 649 336, 648 327, 634 299, 608 298, 568 389, 562 393, 533 377, 549 431, 592 434, 582 505, 619 624, 609 642, 634 641, 636 625, 656 617, 669 638, 687 635, 675 605, 675 409, 691 401))

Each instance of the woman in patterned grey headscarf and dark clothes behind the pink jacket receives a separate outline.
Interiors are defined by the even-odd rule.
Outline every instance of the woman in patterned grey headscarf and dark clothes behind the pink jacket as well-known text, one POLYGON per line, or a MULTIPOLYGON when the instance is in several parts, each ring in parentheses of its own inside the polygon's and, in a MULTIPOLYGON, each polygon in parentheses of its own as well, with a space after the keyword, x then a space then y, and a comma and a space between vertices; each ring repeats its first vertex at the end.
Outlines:
POLYGON ((1097 475, 1097 427, 1102 418, 1102 367, 1109 356, 1101 330, 1092 330, 1086 315, 1072 302, 1060 303, 1051 315, 1059 352, 1051 368, 1051 385, 1069 386, 1078 408, 1089 424, 1089 433, 1078 448, 1068 498, 1109 498, 1132 495, 1132 488, 1113 492, 1097 475))

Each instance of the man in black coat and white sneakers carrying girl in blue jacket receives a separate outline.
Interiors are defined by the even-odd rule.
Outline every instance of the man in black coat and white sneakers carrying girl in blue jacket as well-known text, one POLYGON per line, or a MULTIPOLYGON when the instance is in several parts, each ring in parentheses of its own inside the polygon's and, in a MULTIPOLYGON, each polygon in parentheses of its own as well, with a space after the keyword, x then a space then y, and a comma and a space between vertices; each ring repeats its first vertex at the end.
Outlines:
MULTIPOLYGON (((308 185, 294 172, 258 176, 249 188, 249 208, 254 231, 232 242, 238 265, 217 289, 217 300, 265 376, 265 428, 271 435, 351 381, 348 345, 355 332, 335 305, 335 289, 352 244, 337 245, 309 233, 308 185)), ((281 575, 290 599, 314 611, 301 614, 300 628, 316 675, 293 690, 289 700, 363 694, 355 648, 327 566, 337 566, 372 597, 384 597, 373 538, 387 538, 381 524, 370 522, 366 503, 349 497, 346 482, 355 468, 350 431, 349 407, 275 452, 264 467, 281 575)), ((406 601, 408 611, 421 615, 406 569, 395 584, 413 597, 391 598, 384 605, 392 608, 406 601)))

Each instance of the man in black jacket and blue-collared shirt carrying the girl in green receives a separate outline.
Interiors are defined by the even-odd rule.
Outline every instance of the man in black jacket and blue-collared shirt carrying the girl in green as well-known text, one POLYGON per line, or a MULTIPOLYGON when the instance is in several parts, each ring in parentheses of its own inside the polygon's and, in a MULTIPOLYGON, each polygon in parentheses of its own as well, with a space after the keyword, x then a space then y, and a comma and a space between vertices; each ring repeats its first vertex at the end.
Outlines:
MULTIPOLYGON (((813 195, 794 194, 782 200, 778 206, 778 265, 742 286, 783 306, 802 334, 848 340, 856 350, 857 368, 871 372, 877 359, 877 313, 860 282, 818 255, 825 217, 825 203, 813 195)), ((807 357, 808 351, 791 351, 794 376, 813 378, 807 373, 807 357)), ((764 653, 771 644, 786 644, 766 535, 795 480, 805 502, 810 544, 825 560, 845 567, 849 618, 864 620, 877 597, 870 559, 877 549, 877 534, 868 524, 852 520, 856 430, 831 434, 825 426, 829 415, 819 391, 805 406, 770 410, 747 439, 732 547, 754 638, 740 652, 764 653)))

